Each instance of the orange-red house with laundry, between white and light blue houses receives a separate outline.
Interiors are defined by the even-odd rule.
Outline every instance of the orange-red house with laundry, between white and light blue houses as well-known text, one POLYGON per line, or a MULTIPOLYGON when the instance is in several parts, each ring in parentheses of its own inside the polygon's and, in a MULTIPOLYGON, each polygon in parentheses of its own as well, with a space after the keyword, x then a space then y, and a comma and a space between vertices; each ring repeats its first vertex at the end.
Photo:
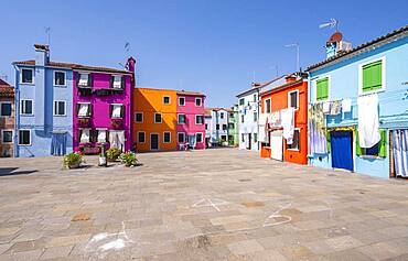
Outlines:
POLYGON ((308 81, 304 74, 286 77, 287 83, 260 94, 261 117, 259 128, 265 128, 260 156, 308 164, 308 81), (294 109, 292 143, 282 138, 281 111, 294 109), (265 120, 265 124, 261 121, 265 120))

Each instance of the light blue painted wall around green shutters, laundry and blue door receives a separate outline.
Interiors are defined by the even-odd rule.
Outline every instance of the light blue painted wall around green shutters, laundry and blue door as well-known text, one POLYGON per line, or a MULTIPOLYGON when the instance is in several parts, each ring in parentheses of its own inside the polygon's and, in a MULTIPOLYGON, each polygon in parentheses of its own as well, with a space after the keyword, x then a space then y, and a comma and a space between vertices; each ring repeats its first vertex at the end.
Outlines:
MULTIPOLYGON (((315 102, 315 80, 325 76, 330 77, 329 100, 340 100, 344 98, 352 99, 352 112, 336 117, 329 116, 329 128, 357 124, 359 65, 382 57, 385 57, 385 90, 378 93, 379 128, 387 130, 408 128, 408 99, 405 99, 408 86, 402 85, 402 83, 408 81, 408 37, 388 43, 382 47, 359 54, 353 58, 336 63, 325 68, 310 72, 309 102, 315 102)), ((388 142, 387 146, 389 144, 388 142)), ((331 154, 311 155, 310 164, 321 167, 331 167, 331 154)), ((356 156, 354 148, 354 171, 357 173, 387 178, 389 176, 388 148, 387 156, 384 159, 356 156)))

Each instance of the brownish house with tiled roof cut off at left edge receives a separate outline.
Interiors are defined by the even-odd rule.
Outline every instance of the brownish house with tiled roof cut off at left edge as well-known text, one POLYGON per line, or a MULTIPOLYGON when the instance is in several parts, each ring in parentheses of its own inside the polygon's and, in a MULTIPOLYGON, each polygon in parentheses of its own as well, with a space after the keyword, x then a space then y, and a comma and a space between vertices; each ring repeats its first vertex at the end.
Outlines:
POLYGON ((14 87, 0 79, 0 157, 13 156, 14 87))

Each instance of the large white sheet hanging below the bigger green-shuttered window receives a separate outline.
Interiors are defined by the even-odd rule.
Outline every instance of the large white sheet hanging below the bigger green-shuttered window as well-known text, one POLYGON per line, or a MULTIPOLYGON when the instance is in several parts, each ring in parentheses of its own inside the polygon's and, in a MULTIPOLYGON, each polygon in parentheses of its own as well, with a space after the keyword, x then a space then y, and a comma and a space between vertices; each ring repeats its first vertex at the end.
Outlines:
POLYGON ((372 148, 382 139, 378 130, 378 95, 361 96, 357 105, 359 146, 372 148))

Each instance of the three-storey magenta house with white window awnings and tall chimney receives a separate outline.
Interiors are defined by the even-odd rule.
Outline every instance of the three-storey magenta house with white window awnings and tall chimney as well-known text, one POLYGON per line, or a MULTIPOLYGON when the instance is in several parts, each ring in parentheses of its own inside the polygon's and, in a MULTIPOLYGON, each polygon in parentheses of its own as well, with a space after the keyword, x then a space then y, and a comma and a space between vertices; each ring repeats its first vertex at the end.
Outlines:
POLYGON ((96 154, 103 143, 122 151, 131 149, 132 57, 126 68, 73 68, 74 151, 96 154))

